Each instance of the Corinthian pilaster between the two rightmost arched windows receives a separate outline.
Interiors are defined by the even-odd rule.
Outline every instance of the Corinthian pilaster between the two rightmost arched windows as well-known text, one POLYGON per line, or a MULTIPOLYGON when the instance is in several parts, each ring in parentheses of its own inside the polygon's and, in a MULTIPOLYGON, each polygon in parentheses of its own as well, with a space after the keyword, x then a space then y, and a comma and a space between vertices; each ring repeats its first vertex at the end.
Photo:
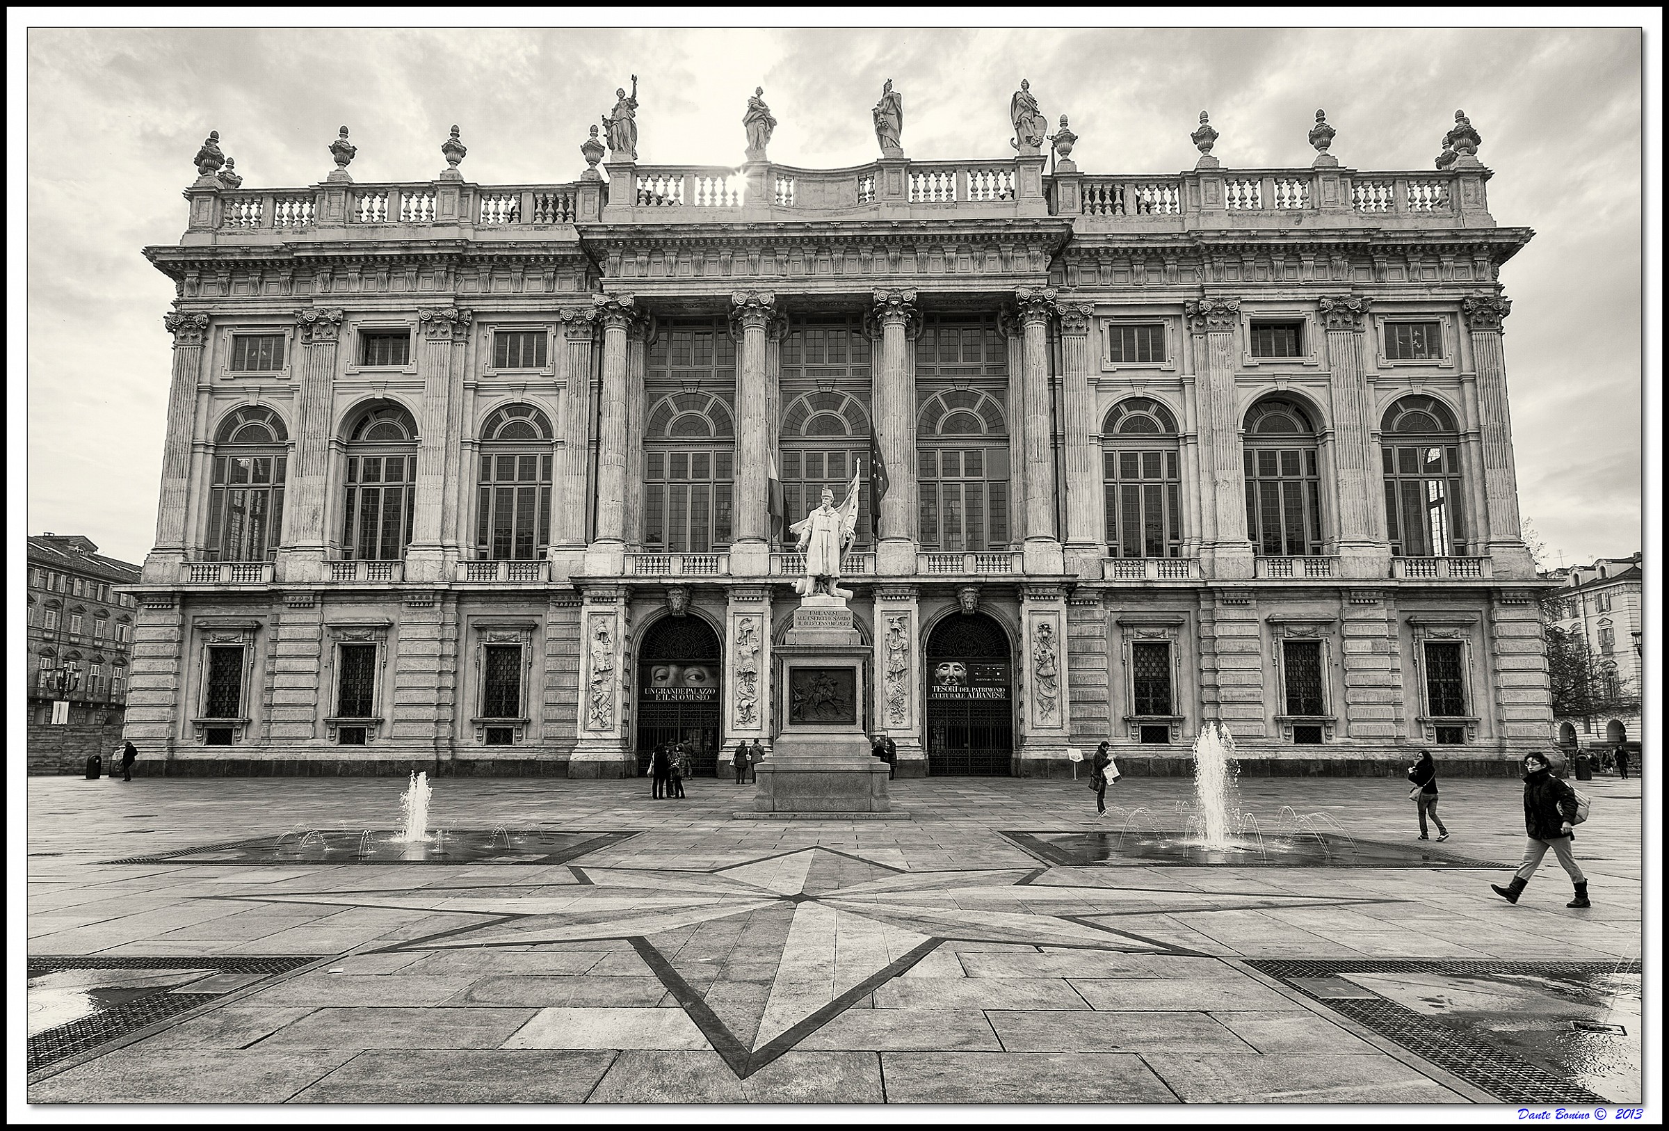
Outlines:
POLYGON ((1339 569, 1345 577, 1387 577, 1380 459, 1374 450, 1374 394, 1362 365, 1367 299, 1322 299, 1327 360, 1334 370, 1334 482, 1337 484, 1339 569))

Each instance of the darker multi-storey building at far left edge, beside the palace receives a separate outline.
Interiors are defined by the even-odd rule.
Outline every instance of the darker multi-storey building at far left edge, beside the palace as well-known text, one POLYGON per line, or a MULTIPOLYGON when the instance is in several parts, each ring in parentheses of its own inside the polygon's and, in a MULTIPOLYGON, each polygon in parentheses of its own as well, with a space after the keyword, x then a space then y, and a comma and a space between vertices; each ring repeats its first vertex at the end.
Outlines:
MULTIPOLYGON (((139 602, 118 587, 139 566, 105 557, 80 534, 37 534, 27 544, 28 721, 120 724, 127 707, 139 602)), ((88 751, 108 754, 108 751, 88 751)))

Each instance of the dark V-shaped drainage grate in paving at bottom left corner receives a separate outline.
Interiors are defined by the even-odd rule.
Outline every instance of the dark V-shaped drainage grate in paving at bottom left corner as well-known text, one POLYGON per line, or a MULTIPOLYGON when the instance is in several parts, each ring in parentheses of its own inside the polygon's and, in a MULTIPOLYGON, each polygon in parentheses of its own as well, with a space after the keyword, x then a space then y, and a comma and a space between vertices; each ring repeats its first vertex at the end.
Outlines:
MULTIPOLYGON (((317 961, 314 958, 58 958, 30 956, 28 974, 50 974, 65 969, 215 969, 225 974, 285 974, 292 969, 317 961)), ((207 981, 207 979, 205 979, 207 981)), ((192 988, 175 991, 172 986, 157 986, 152 993, 130 998, 107 1009, 97 1009, 83 1018, 68 1021, 53 1029, 37 1033, 28 1038, 28 1071, 50 1068, 62 1059, 88 1053, 100 1044, 117 1041, 130 1033, 137 1033, 157 1021, 189 1013, 197 1006, 222 998, 219 993, 192 993, 192 988)))

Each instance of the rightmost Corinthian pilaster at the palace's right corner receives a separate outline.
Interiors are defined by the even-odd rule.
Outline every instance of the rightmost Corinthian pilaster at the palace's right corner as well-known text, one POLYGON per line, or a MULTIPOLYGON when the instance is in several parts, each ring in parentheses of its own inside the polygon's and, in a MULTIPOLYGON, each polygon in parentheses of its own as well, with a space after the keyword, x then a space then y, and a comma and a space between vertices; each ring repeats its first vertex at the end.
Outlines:
POLYGON ((1512 462, 1512 417, 1507 410, 1507 359, 1500 349, 1500 322, 1512 310, 1505 295, 1460 300, 1460 315, 1472 334, 1472 369, 1477 372, 1477 417, 1484 440, 1482 534, 1495 559, 1497 577, 1534 577, 1535 564, 1519 525, 1519 475, 1512 462))

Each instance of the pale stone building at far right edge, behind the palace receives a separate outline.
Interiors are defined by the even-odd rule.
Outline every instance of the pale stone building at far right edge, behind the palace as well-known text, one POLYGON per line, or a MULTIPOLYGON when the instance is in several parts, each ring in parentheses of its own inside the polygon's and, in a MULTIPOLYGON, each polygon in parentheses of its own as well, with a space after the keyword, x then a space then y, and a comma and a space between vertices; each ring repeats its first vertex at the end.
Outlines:
POLYGON ((1581 642, 1587 692, 1596 711, 1556 714, 1559 746, 1567 751, 1626 747, 1641 756, 1641 555, 1602 557, 1556 574, 1564 589, 1547 594, 1549 626, 1581 642))

